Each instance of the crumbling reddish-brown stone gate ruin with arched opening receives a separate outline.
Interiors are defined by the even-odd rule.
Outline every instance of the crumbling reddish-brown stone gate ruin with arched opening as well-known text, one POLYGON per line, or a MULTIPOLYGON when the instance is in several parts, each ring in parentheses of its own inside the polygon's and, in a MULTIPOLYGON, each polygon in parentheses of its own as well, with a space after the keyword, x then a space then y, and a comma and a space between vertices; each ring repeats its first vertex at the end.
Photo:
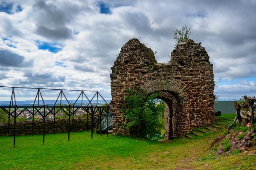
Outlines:
POLYGON ((121 48, 110 74, 113 133, 128 134, 117 126, 128 121, 119 108, 125 102, 125 89, 135 86, 147 95, 157 93, 166 103, 166 140, 214 123, 213 65, 200 44, 193 40, 179 43, 168 63, 157 63, 151 48, 136 38, 121 48))

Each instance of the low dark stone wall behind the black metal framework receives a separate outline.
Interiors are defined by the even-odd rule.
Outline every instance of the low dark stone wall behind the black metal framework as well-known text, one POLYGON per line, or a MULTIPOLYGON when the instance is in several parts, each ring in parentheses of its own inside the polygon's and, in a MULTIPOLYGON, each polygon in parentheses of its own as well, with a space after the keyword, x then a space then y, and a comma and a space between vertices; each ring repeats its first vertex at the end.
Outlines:
MULTIPOLYGON (((54 128, 53 119, 45 120, 45 134, 53 133, 54 128)), ((32 135, 32 121, 22 121, 16 122, 16 135, 32 135)), ((70 120, 70 131, 84 131, 87 130, 87 121, 86 119, 77 118, 70 120)), ((91 129, 90 119, 88 120, 88 129, 91 129)), ((33 134, 43 134, 44 122, 43 120, 36 120, 34 122, 33 134)), ((55 119, 55 133, 64 133, 68 132, 68 119, 55 119)), ((8 133, 8 123, 0 123, 0 136, 6 136, 8 133)), ((9 127, 9 136, 13 136, 14 133, 14 123, 10 123, 9 127)))

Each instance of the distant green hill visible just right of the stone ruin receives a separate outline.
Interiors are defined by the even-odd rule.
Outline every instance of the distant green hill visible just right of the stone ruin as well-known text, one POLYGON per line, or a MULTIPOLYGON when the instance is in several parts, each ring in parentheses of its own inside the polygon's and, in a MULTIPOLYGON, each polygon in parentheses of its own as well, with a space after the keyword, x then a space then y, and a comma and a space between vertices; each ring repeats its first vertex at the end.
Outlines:
POLYGON ((234 100, 233 101, 218 101, 214 103, 213 106, 215 111, 221 111, 221 113, 236 113, 236 109, 234 107, 234 100))

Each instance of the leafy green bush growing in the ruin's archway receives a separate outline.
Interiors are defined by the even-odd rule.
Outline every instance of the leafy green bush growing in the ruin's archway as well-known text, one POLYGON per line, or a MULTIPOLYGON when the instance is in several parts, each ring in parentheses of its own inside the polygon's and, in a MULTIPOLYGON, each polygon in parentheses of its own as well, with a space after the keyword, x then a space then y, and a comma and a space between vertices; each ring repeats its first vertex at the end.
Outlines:
POLYGON ((121 109, 124 112, 124 117, 129 122, 120 125, 130 133, 142 137, 151 134, 161 133, 164 116, 164 105, 156 99, 157 94, 146 96, 145 91, 140 88, 128 89, 126 91, 125 103, 121 109), (160 122, 160 121, 161 122, 160 122))

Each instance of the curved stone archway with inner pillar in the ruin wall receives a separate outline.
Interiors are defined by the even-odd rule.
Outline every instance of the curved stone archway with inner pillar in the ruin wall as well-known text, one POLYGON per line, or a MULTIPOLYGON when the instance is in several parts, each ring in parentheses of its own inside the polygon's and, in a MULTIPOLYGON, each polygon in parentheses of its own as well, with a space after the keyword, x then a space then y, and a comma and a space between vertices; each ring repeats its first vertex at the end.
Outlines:
POLYGON ((186 105, 188 99, 186 91, 184 91, 185 87, 173 80, 154 80, 145 83, 141 88, 147 95, 156 93, 157 99, 162 99, 166 103, 164 115, 166 140, 172 139, 174 136, 182 136, 183 105, 186 105))

